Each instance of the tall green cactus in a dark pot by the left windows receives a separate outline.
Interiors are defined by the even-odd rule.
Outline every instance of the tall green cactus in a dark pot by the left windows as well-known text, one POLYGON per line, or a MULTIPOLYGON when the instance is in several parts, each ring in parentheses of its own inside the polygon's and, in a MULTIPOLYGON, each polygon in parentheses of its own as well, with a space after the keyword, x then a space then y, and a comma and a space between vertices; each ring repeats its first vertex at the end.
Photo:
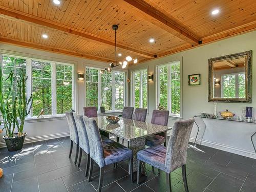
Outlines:
MULTIPOLYGON (((26 81, 28 77, 22 71, 19 75, 19 79, 14 77, 11 72, 9 76, 4 80, 3 70, 0 68, 0 112, 3 118, 3 130, 6 131, 6 135, 3 139, 6 142, 8 151, 21 150, 26 137, 26 133, 23 131, 26 116, 30 113, 32 108, 32 95, 27 99, 26 95, 26 81), (4 95, 4 81, 9 82, 9 88, 7 96, 4 95), (10 99, 13 93, 13 82, 16 81, 17 96, 14 99, 10 99), (19 120, 18 120, 19 119, 19 120), (17 133, 14 133, 17 127, 17 133)), ((1 121, 2 123, 2 121, 1 121)))

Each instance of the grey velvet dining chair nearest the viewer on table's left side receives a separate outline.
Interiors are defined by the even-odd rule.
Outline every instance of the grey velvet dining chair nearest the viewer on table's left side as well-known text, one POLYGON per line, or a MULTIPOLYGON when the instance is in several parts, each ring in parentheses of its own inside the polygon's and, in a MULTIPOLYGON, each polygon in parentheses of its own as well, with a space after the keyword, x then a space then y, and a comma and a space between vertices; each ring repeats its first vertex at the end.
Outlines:
POLYGON ((133 183, 133 151, 119 144, 113 143, 110 147, 104 148, 100 137, 98 125, 95 119, 83 116, 84 124, 89 138, 90 147, 90 169, 88 182, 92 179, 93 162, 100 167, 98 191, 101 191, 103 181, 103 167, 117 162, 129 160, 130 176, 133 183))

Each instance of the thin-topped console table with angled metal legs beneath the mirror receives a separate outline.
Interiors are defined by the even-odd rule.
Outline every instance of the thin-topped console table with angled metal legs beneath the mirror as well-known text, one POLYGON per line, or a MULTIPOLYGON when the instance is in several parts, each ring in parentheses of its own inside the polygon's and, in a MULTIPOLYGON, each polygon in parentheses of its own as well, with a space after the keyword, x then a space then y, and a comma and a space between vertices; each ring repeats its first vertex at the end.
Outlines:
MULTIPOLYGON (((196 118, 200 118, 200 119, 205 118, 205 119, 215 119, 215 120, 223 120, 223 121, 235 121, 235 122, 240 122, 240 123, 254 123, 254 124, 256 124, 256 121, 254 121, 254 120, 253 121, 247 121, 247 120, 239 120, 237 118, 224 119, 224 118, 219 117, 219 116, 218 117, 207 117, 207 116, 202 116, 202 115, 194 116, 193 119, 195 119, 195 124, 197 125, 198 130, 197 130, 197 135, 196 135, 194 144, 190 145, 190 147, 192 147, 192 148, 196 147, 196 141, 197 141, 198 134, 199 134, 199 131, 200 131, 200 127, 199 127, 198 123, 196 122, 196 118)), ((202 122, 204 123, 204 121, 202 121, 202 122)), ((206 129, 205 123, 204 123, 204 127, 201 127, 201 130, 202 129, 203 129, 203 131, 201 132, 201 135, 202 135, 202 138, 203 138, 203 135, 204 135, 204 132, 205 132, 205 129, 206 129)), ((256 146, 255 146, 253 140, 256 141, 256 132, 251 135, 251 143, 252 143, 252 146, 253 146, 254 151, 256 153, 256 146)))

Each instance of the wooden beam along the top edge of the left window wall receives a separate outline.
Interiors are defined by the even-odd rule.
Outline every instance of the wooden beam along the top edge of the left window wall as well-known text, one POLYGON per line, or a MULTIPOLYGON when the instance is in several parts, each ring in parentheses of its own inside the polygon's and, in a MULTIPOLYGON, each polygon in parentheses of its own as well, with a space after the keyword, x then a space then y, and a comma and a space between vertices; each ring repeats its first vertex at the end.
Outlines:
POLYGON ((25 42, 25 41, 13 40, 13 39, 10 39, 10 38, 5 38, 5 37, 0 37, 0 42, 4 42, 5 44, 17 45, 17 46, 20 46, 20 47, 33 48, 33 49, 44 50, 44 51, 53 52, 53 53, 60 53, 60 54, 65 54, 65 55, 69 55, 69 56, 75 56, 75 57, 97 60, 97 61, 115 62, 114 60, 109 59, 109 58, 98 57, 98 56, 89 55, 89 54, 77 53, 77 52, 69 51, 69 50, 66 50, 66 49, 56 49, 54 47, 34 44, 34 43, 30 43, 30 42, 25 42))

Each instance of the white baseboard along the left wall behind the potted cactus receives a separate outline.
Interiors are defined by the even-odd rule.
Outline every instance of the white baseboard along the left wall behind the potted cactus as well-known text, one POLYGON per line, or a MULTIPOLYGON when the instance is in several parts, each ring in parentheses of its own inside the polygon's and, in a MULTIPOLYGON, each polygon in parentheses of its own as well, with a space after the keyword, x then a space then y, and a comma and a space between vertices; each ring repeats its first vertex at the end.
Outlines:
MULTIPOLYGON (((69 135, 70 135, 69 132, 63 132, 63 133, 56 133, 56 134, 50 134, 50 135, 27 137, 27 138, 25 138, 24 143, 32 143, 32 142, 36 142, 36 141, 43 141, 43 140, 48 140, 48 139, 56 139, 56 138, 60 138, 60 137, 67 137, 69 135)), ((5 141, 0 142, 0 148, 1 147, 6 147, 5 141)))

